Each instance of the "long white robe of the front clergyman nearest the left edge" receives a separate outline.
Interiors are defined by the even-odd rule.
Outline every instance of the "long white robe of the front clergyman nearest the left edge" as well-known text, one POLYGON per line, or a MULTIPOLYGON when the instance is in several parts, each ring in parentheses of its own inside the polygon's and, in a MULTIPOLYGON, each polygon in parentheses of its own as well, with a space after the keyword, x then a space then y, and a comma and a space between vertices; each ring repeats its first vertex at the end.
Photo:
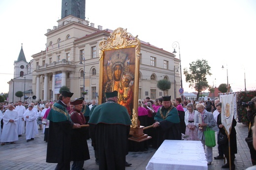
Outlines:
POLYGON ((17 132, 17 121, 19 119, 19 114, 15 110, 6 110, 3 114, 3 127, 0 142, 14 142, 18 141, 17 132), (9 122, 9 120, 14 120, 14 122, 9 122))

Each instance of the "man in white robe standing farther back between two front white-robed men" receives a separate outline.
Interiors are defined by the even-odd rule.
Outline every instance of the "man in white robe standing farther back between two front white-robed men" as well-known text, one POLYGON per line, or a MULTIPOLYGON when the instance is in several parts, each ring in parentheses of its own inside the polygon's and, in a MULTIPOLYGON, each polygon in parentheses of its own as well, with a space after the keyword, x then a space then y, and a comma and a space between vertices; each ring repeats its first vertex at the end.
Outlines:
POLYGON ((19 137, 21 137, 21 135, 25 133, 25 121, 23 118, 23 114, 26 111, 26 108, 22 106, 21 100, 18 101, 18 106, 16 106, 15 111, 17 111, 19 114, 19 119, 17 121, 17 129, 18 129, 18 135, 19 137))

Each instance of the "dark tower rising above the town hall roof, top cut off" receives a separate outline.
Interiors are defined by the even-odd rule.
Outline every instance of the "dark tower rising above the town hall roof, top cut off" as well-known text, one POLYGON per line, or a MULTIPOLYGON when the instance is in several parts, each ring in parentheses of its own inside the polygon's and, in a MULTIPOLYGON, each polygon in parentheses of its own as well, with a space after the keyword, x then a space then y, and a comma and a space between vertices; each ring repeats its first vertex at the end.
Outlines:
POLYGON ((85 19, 85 0, 62 0, 62 19, 72 15, 85 19))

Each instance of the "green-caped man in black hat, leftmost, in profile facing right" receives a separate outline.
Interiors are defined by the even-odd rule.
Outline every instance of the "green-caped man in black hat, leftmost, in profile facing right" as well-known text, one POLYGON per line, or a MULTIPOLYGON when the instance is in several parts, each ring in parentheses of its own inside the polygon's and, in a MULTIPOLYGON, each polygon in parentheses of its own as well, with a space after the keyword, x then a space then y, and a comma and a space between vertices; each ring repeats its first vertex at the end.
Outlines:
POLYGON ((50 123, 46 162, 58 163, 55 170, 70 170, 70 131, 81 128, 71 121, 66 109, 72 95, 69 91, 62 91, 47 116, 50 123))

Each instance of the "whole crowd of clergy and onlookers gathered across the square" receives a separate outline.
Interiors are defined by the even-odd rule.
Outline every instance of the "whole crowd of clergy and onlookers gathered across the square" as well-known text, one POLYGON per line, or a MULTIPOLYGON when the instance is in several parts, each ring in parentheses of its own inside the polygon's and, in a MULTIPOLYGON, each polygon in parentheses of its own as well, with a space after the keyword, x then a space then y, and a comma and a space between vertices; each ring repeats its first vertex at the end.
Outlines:
MULTIPOLYGON (((84 161, 90 159, 87 140, 92 139, 96 164, 100 170, 124 170, 130 150, 129 131, 131 120, 126 107, 118 104, 118 92, 106 92, 106 103, 96 101, 87 105, 84 98, 70 101, 73 93, 63 91, 57 102, 3 104, 0 106, 0 142, 15 144, 24 133, 27 142, 33 141, 38 130, 43 130, 47 142, 46 162, 57 163, 56 170, 83 170, 84 161), (89 125, 88 125, 89 124, 89 125), (89 128, 88 128, 89 127, 89 128), (90 132, 90 133, 89 133, 90 132)), ((252 99, 256 104, 256 97, 252 99)), ((254 107, 246 107, 250 120, 248 138, 256 138, 254 107), (251 125, 254 127, 251 128, 251 125), (253 129, 253 130, 252 130, 253 129)), ((144 131, 152 139, 139 142, 135 151, 159 148, 164 140, 201 141, 205 148, 208 165, 213 160, 212 147, 205 145, 204 132, 209 127, 217 132, 218 153, 214 159, 226 159, 222 168, 235 169, 237 153, 236 120, 233 118, 230 143, 221 142, 226 135, 222 124, 222 103, 190 101, 180 97, 171 100, 162 96, 155 100, 146 97, 138 101, 138 119, 141 126, 153 125, 144 131), (230 146, 230 153, 228 151, 230 146)), ((248 142, 252 163, 256 166, 256 140, 248 142)), ((133 148, 134 149, 134 148, 133 148)), ((134 151, 134 150, 133 150, 134 151)))

